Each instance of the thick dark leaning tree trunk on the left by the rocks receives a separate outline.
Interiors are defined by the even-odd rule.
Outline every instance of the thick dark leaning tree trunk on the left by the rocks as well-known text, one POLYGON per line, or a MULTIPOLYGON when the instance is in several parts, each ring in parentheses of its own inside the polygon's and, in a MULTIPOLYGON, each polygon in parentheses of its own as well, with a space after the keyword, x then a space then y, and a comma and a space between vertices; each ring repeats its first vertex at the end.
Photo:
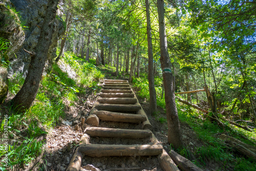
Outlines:
POLYGON ((57 5, 58 0, 49 0, 48 2, 46 16, 42 23, 35 53, 31 56, 27 77, 22 89, 12 99, 13 108, 16 111, 25 112, 28 110, 36 97, 52 40, 57 5))

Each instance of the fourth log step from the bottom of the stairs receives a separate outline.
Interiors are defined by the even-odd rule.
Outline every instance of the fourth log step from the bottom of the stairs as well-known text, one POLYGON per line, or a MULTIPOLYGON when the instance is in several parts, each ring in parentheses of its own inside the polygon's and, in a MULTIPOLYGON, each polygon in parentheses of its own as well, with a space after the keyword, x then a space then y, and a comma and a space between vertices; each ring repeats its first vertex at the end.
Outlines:
POLYGON ((141 106, 138 104, 97 104, 95 108, 98 111, 137 112, 141 109, 141 106))

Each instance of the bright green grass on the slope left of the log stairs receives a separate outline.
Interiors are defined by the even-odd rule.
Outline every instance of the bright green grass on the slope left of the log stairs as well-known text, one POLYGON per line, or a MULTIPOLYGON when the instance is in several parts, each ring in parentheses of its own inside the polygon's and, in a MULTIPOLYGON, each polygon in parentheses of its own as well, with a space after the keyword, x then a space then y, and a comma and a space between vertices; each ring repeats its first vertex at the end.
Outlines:
MULTIPOLYGON (((47 132, 43 131, 39 125, 50 130, 60 117, 65 116, 66 105, 74 105, 78 102, 79 94, 85 93, 88 89, 95 92, 100 89, 97 84, 104 75, 93 65, 95 60, 89 63, 71 52, 66 52, 61 62, 75 71, 75 79, 70 78, 68 73, 63 72, 58 65, 54 64, 52 70, 42 76, 31 108, 25 114, 8 111, 8 136, 12 140, 8 144, 8 169, 24 168, 41 153, 44 143, 37 142, 36 139, 47 132)), ((14 74, 8 80, 9 96, 13 97, 24 81, 23 74, 14 74)), ((0 120, 1 134, 4 132, 4 125, 5 121, 0 120)), ((0 170, 7 169, 3 165, 5 154, 5 146, 0 144, 0 170)))

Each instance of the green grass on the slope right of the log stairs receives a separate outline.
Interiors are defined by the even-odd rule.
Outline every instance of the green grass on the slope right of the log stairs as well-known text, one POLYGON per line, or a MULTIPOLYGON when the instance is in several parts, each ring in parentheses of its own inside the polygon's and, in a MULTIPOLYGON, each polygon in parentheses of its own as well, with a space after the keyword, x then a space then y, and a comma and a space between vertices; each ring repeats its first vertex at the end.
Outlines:
MULTIPOLYGON (((148 92, 148 81, 146 76, 133 79, 134 87, 138 88, 139 96, 142 98, 149 99, 148 92)), ((162 81, 160 78, 155 78, 155 88, 157 93, 157 104, 162 108, 165 108, 164 98, 161 99, 162 93, 162 81)), ((197 138, 201 140, 205 145, 198 147, 193 155, 197 158, 197 161, 193 161, 200 167, 206 166, 211 162, 222 163, 222 170, 226 170, 228 167, 233 170, 256 170, 256 162, 251 159, 245 159, 243 156, 233 154, 231 149, 225 146, 222 140, 216 138, 216 134, 223 133, 224 130, 217 124, 211 123, 207 119, 203 118, 202 114, 198 113, 197 110, 190 108, 187 105, 183 105, 176 101, 179 119, 182 122, 187 123, 197 134, 197 138), (202 115, 202 116, 201 116, 202 115)), ((163 117, 155 115, 156 119, 161 123, 165 122, 163 117)), ((229 123, 225 123, 229 127, 229 123)), ((240 129, 237 126, 232 126, 232 129, 228 130, 229 135, 233 136, 245 143, 255 145, 256 134, 240 129), (240 135, 247 137, 250 141, 241 138, 240 135)), ((189 150, 186 147, 178 149, 178 153, 186 158, 190 158, 189 150)))

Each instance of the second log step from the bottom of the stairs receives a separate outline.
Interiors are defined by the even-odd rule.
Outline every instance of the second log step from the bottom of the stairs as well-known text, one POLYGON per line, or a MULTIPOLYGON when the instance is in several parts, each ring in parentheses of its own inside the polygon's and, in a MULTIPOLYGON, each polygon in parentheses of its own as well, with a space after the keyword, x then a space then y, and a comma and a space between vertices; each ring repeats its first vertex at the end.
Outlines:
POLYGON ((94 137, 115 138, 146 138, 152 135, 149 130, 110 129, 106 127, 88 127, 84 133, 94 137))

